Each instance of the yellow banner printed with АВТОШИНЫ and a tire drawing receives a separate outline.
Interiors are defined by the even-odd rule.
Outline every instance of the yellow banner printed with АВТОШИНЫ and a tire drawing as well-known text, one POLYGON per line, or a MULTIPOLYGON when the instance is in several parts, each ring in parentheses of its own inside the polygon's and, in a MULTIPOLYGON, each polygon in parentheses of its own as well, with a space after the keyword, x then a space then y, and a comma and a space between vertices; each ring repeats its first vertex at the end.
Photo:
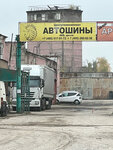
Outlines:
POLYGON ((20 41, 96 41, 96 23, 20 23, 20 41))

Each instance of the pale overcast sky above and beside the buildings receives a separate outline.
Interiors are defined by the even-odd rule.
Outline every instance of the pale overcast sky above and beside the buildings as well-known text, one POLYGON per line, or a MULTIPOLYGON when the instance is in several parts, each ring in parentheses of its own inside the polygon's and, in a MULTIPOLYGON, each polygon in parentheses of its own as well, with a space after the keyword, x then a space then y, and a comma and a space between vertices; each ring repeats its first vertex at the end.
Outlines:
MULTIPOLYGON (((83 10, 82 21, 113 21, 113 0, 1 0, 0 34, 18 34, 18 22, 26 22, 29 6, 77 5, 83 10)), ((83 42, 83 64, 105 57, 113 71, 113 42, 83 42)))

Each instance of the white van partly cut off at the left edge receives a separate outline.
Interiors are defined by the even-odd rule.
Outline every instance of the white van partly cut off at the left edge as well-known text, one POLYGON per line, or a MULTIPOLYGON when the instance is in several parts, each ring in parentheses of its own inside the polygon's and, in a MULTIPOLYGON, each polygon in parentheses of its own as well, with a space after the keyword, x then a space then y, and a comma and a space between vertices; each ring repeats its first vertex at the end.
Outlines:
POLYGON ((0 115, 6 116, 7 115, 7 101, 6 101, 6 90, 5 90, 5 83, 0 81, 0 115))

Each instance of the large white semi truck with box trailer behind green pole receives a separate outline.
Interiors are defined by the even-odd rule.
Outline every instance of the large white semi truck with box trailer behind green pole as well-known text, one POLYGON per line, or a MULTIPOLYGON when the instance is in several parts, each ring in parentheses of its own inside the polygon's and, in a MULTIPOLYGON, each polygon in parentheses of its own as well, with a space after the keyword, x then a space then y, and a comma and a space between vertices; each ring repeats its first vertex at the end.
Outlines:
MULTIPOLYGON (((55 71, 44 65, 21 65, 21 70, 30 72, 30 110, 50 109, 55 98, 55 71)), ((16 101, 16 90, 12 103, 13 110, 16 110, 14 101, 16 101)))

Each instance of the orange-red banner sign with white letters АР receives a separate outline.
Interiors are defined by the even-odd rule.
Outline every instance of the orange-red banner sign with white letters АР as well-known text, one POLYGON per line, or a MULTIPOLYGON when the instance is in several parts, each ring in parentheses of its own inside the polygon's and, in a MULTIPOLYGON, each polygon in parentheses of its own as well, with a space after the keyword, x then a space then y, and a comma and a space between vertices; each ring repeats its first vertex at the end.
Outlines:
POLYGON ((97 23, 97 41, 113 41, 113 22, 97 23))

